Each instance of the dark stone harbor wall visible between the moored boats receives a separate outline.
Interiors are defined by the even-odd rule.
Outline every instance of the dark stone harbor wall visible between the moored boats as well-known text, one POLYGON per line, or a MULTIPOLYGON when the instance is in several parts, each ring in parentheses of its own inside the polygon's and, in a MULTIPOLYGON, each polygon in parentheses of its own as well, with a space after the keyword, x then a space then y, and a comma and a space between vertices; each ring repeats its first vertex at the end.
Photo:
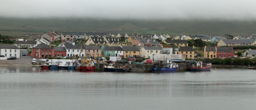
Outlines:
MULTIPOLYGON (((95 64, 95 72, 102 72, 104 66, 108 66, 109 64, 95 64)), ((151 68, 154 67, 153 64, 116 64, 119 67, 129 66, 131 72, 151 72, 151 68)), ((189 64, 179 64, 179 68, 176 72, 179 71, 188 71, 189 64)))

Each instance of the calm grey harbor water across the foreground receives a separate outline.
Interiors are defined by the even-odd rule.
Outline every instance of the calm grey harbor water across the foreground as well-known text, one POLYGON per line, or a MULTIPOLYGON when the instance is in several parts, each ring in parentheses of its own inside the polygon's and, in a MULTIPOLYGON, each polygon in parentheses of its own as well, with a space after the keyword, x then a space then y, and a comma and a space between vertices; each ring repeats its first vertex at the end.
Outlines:
POLYGON ((86 73, 0 67, 0 109, 255 109, 255 71, 86 73))

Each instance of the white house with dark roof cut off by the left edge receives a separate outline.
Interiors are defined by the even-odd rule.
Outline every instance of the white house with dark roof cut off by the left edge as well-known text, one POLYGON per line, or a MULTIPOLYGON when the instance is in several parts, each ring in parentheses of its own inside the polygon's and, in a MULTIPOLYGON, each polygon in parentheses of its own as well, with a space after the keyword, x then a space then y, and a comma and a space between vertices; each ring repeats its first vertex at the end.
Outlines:
POLYGON ((15 56, 17 59, 20 58, 20 49, 15 45, 0 44, 0 54, 5 57, 0 57, 1 60, 6 60, 9 57, 15 56))

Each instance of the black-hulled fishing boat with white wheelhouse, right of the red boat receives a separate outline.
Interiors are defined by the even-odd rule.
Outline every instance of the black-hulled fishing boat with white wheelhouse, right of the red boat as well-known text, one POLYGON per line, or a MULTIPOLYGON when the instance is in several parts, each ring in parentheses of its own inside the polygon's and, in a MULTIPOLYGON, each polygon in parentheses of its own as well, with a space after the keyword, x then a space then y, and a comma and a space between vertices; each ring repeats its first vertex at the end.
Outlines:
POLYGON ((103 67, 105 72, 130 72, 129 68, 123 67, 117 67, 115 64, 110 64, 109 66, 103 67))

